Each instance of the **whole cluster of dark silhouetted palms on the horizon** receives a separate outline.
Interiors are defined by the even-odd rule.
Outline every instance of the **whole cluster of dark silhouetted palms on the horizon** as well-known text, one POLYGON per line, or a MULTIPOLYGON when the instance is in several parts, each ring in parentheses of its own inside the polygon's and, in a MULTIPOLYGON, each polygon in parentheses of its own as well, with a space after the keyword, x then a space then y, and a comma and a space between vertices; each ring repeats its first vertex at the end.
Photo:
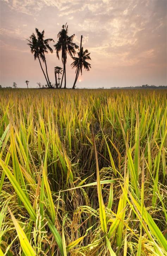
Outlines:
MULTIPOLYGON (((30 36, 30 40, 28 45, 30 46, 31 53, 34 55, 34 59, 39 60, 39 64, 41 66, 42 72, 44 74, 45 80, 47 82, 47 87, 53 88, 53 85, 50 83, 49 75, 48 75, 48 68, 47 68, 47 62, 45 58, 45 54, 50 51, 50 53, 53 52, 52 48, 49 46, 49 42, 54 42, 52 38, 44 39, 44 30, 42 32, 39 32, 39 30, 36 28, 36 35, 32 33, 30 36), (44 63, 45 71, 43 68, 42 63, 44 63)), ((67 54, 70 55, 73 59, 73 63, 71 64, 72 68, 76 68, 76 76, 73 84, 73 89, 75 89, 76 81, 79 77, 79 73, 82 75, 82 68, 85 68, 86 71, 89 71, 91 68, 91 64, 87 62, 87 60, 91 60, 90 53, 88 53, 88 50, 83 50, 82 47, 82 36, 81 36, 81 43, 80 43, 80 49, 79 46, 76 45, 74 40, 75 34, 72 36, 68 36, 68 25, 62 26, 61 31, 58 33, 57 38, 58 41, 54 45, 56 50, 57 58, 60 59, 59 54, 61 52, 61 60, 63 64, 63 68, 61 67, 55 67, 55 82, 56 82, 56 88, 62 88, 62 83, 64 81, 64 88, 66 88, 66 63, 67 63, 67 54), (75 57, 76 49, 79 49, 78 51, 78 57, 75 57), (58 78, 57 78, 58 74, 58 78), (62 74, 62 78, 60 78, 60 75, 62 74), (61 83, 60 83, 61 80, 61 83)))

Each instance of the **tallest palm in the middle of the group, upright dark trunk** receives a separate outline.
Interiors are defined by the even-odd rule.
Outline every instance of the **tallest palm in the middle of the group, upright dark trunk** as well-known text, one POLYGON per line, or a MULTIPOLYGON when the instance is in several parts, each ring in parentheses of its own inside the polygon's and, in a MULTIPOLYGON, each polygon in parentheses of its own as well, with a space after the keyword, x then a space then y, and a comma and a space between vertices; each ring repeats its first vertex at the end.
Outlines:
POLYGON ((78 45, 73 43, 74 35, 68 36, 68 25, 62 26, 61 31, 58 33, 58 42, 54 45, 56 49, 56 54, 59 59, 59 52, 62 51, 61 59, 63 63, 63 75, 61 80, 60 88, 62 87, 63 77, 64 77, 64 88, 66 88, 66 62, 67 62, 67 53, 73 57, 76 53, 75 49, 78 48, 78 45))

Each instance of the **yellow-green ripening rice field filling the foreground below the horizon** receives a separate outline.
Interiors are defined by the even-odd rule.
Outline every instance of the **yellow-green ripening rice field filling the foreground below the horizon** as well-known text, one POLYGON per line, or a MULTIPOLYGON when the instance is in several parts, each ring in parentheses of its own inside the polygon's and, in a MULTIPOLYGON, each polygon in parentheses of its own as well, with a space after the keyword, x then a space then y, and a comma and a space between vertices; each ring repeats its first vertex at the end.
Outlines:
POLYGON ((0 255, 166 255, 166 91, 1 90, 0 255))

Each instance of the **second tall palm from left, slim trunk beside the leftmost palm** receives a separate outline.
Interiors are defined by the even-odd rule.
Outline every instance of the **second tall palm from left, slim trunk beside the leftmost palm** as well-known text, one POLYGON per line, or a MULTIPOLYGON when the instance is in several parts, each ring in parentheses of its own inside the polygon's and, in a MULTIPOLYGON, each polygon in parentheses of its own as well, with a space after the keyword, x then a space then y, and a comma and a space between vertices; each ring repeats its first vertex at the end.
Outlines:
POLYGON ((45 63, 48 82, 49 82, 50 87, 52 87, 51 83, 50 83, 50 80, 49 80, 49 76, 48 76, 48 68, 47 68, 45 53, 48 53, 48 50, 51 53, 53 52, 52 48, 49 46, 49 42, 55 42, 55 41, 52 38, 44 39, 44 33, 45 33, 44 30, 42 32, 39 32, 39 30, 37 28, 35 30, 36 30, 37 37, 38 37, 39 51, 43 55, 43 60, 44 60, 44 63, 45 63))

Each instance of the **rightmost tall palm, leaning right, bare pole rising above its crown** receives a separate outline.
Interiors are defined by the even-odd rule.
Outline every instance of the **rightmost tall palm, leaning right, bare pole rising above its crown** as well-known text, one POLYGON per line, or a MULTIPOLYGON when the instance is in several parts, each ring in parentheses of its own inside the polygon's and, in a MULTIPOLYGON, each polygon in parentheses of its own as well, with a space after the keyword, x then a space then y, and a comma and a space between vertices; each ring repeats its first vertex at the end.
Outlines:
MULTIPOLYGON (((81 45, 82 45, 82 36, 81 36, 81 45)), ((88 53, 88 50, 86 49, 85 51, 83 51, 83 47, 80 47, 80 50, 77 54, 78 54, 78 57, 72 57, 74 62, 71 64, 72 68, 76 68, 76 71, 75 71, 76 76, 75 76, 73 89, 75 89, 75 84, 79 77, 79 73, 81 72, 81 75, 82 75, 82 68, 84 67, 86 71, 89 71, 91 68, 91 64, 87 62, 87 60, 91 60, 91 57, 89 56, 90 53, 88 53)))

